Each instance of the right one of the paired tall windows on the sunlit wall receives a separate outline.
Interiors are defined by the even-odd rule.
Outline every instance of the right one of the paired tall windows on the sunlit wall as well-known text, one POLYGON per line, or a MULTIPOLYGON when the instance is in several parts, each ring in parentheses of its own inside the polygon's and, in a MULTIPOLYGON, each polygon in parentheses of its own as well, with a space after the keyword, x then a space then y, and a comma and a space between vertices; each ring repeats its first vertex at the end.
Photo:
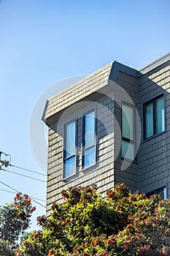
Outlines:
POLYGON ((96 117, 95 111, 83 116, 82 167, 96 163, 96 117))

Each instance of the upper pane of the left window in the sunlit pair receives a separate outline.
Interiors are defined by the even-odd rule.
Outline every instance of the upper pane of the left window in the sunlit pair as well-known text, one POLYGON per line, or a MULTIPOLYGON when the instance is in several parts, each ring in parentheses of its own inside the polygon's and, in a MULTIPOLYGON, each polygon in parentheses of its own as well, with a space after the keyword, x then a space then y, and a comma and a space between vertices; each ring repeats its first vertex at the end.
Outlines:
POLYGON ((66 125, 66 156, 75 154, 76 150, 76 121, 66 125))

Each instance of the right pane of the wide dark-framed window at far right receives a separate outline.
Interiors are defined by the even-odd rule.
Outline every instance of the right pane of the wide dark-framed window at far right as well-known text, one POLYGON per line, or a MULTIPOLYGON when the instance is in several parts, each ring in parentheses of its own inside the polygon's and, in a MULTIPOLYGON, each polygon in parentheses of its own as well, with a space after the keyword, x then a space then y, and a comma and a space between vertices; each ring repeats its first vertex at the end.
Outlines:
POLYGON ((156 134, 165 130, 165 113, 163 97, 155 100, 155 129, 156 134))

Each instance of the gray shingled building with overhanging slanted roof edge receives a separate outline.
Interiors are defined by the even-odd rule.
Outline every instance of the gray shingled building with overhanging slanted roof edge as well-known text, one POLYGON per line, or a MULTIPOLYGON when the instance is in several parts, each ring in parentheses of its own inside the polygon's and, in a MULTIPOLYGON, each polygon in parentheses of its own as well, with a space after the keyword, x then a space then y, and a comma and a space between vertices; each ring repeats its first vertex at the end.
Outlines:
POLYGON ((170 197, 170 53, 136 70, 113 61, 47 100, 47 214, 61 190, 123 182, 170 197))

